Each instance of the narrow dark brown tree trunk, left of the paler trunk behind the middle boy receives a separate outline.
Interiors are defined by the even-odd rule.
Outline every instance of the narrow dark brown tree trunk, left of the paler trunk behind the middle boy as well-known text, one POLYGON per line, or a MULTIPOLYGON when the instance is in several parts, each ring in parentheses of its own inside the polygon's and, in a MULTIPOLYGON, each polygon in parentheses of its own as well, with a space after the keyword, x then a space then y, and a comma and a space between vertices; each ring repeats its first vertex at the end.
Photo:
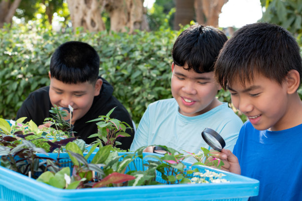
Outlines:
POLYGON ((194 0, 175 0, 175 7, 174 30, 179 30, 194 19, 194 0))

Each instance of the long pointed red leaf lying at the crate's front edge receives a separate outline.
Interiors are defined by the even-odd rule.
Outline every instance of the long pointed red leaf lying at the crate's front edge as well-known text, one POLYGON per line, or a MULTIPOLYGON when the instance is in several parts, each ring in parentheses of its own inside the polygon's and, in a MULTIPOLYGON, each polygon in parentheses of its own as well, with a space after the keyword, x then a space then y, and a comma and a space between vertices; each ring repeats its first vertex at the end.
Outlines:
POLYGON ((122 183, 125 181, 129 181, 129 180, 133 180, 135 179, 135 176, 129 175, 129 174, 122 174, 122 173, 118 173, 118 172, 113 172, 111 174, 109 174, 108 176, 106 176, 104 179, 102 179, 101 181, 95 183, 92 188, 99 188, 102 186, 106 186, 108 184, 118 184, 118 183, 122 183))

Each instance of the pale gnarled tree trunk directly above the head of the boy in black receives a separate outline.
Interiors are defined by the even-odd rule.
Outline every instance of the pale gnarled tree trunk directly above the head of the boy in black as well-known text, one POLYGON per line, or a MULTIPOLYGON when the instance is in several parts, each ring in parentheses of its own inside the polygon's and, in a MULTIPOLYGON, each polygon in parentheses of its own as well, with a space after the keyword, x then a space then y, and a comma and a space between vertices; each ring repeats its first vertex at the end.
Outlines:
POLYGON ((74 28, 83 27, 90 32, 105 30, 101 16, 103 0, 67 0, 67 3, 74 28))

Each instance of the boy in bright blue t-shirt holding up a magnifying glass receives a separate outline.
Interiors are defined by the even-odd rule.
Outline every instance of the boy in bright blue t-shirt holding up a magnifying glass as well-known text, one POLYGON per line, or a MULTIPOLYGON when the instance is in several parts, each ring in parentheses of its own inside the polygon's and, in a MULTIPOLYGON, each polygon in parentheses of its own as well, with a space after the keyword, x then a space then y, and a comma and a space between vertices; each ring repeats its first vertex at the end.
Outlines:
POLYGON ((223 149, 223 169, 260 181, 252 201, 302 200, 302 76, 300 47, 287 30, 255 23, 225 43, 215 77, 248 121, 233 153, 223 149))

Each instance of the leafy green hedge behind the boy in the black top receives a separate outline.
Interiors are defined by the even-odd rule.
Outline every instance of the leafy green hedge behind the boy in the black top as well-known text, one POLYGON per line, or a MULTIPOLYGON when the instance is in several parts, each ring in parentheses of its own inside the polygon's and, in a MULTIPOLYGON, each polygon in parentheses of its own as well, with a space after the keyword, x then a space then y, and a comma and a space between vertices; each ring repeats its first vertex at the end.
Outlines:
POLYGON ((34 25, 5 27, 0 32, 0 117, 14 118, 28 94, 49 84, 52 53, 61 43, 79 40, 100 55, 100 75, 114 87, 138 123, 148 104, 171 98, 171 49, 179 32, 55 33, 34 25))

